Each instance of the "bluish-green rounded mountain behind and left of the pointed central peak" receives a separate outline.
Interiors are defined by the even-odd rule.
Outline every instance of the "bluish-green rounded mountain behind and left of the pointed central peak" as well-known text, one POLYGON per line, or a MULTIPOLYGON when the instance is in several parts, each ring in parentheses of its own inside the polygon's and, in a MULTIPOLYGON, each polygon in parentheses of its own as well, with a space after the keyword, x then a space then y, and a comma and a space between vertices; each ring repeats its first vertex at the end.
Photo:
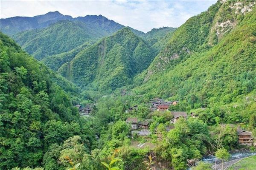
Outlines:
POLYGON ((62 20, 47 28, 17 33, 13 38, 26 52, 41 60, 50 55, 70 51, 84 42, 102 36, 104 34, 85 23, 62 20))

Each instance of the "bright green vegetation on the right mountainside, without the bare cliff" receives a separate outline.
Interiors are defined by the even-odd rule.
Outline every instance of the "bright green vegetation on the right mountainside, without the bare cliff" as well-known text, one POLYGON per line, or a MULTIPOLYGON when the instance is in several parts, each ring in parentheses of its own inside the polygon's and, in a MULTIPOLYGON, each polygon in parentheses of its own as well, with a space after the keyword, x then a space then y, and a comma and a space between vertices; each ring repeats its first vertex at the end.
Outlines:
POLYGON ((135 77, 139 86, 134 93, 179 100, 187 111, 211 108, 198 114, 209 125, 215 124, 216 116, 220 122, 248 123, 256 105, 248 96, 255 96, 256 87, 256 46, 251 41, 255 37, 255 8, 236 19, 236 27, 218 43, 209 45, 220 8, 227 6, 217 2, 177 28, 166 48, 135 77))

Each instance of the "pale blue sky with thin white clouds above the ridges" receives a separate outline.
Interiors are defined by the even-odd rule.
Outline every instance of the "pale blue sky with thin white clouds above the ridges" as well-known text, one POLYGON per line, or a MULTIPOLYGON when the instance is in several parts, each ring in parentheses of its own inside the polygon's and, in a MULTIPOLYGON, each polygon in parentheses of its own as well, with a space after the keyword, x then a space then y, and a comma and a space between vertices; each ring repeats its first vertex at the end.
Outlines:
POLYGON ((59 11, 72 17, 99 15, 147 32, 163 26, 179 27, 217 0, 0 0, 0 18, 33 17, 59 11))

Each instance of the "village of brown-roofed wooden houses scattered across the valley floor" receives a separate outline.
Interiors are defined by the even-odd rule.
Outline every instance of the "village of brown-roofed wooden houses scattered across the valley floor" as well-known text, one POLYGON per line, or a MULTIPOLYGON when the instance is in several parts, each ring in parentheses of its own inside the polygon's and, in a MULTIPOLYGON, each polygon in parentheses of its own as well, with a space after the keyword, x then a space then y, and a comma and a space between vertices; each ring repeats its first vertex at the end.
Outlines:
MULTIPOLYGON (((126 90, 122 90, 121 92, 122 96, 130 95, 130 93, 127 93, 126 90)), ((164 99, 160 98, 154 98, 150 100, 150 103, 148 103, 148 109, 151 111, 151 113, 154 113, 155 111, 161 113, 161 114, 168 114, 170 113, 172 116, 172 119, 169 120, 169 126, 166 128, 166 131, 175 128, 174 124, 177 122, 178 119, 181 117, 184 119, 196 118, 198 115, 196 115, 194 112, 187 113, 186 111, 171 111, 170 106, 176 106, 179 101, 165 101, 164 99)), ((75 105, 76 108, 79 109, 79 115, 85 116, 85 117, 92 117, 90 113, 93 111, 93 107, 95 104, 91 105, 85 105, 82 107, 81 105, 75 105)), ((138 105, 134 105, 133 107, 128 108, 125 110, 125 113, 132 113, 134 111, 138 110, 138 105)), ((201 108, 201 110, 205 110, 205 108, 201 108)), ((151 131, 149 130, 149 127, 152 123, 152 119, 139 119, 135 116, 128 117, 125 122, 127 125, 131 127, 131 141, 132 145, 134 145, 137 148, 143 148, 143 147, 150 147, 151 149, 154 148, 154 145, 151 142, 147 142, 147 139, 149 135, 151 135, 151 131), (134 136, 140 136, 144 139, 146 139, 144 143, 134 141, 134 136)), ((238 135, 238 143, 241 145, 247 145, 247 146, 256 146, 256 142, 253 142, 253 136, 252 132, 243 130, 239 127, 236 129, 237 135, 238 135)))

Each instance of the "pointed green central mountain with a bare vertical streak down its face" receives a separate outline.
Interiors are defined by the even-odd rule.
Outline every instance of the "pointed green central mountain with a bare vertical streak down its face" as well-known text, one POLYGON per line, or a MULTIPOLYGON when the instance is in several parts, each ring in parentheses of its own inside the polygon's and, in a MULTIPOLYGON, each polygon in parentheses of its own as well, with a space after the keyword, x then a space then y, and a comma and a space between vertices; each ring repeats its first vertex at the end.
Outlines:
POLYGON ((82 50, 58 72, 75 84, 109 91, 128 85, 154 59, 154 49, 129 28, 82 50))

